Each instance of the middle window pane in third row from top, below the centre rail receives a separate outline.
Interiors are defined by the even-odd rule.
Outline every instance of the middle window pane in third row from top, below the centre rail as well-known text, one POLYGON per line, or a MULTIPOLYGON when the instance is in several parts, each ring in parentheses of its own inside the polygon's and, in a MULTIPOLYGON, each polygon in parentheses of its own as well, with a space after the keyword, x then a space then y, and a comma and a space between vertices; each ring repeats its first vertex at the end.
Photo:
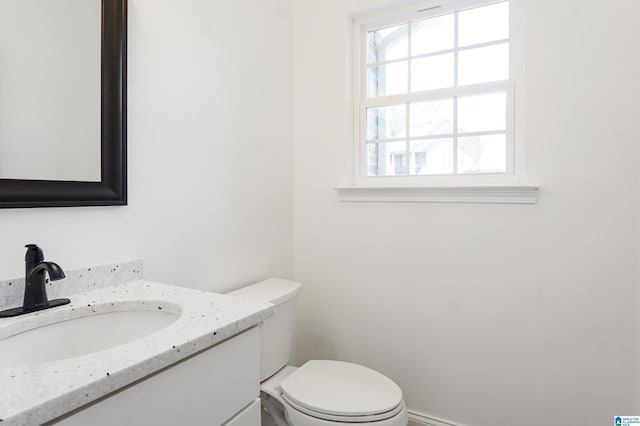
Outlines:
POLYGON ((417 102, 409 108, 412 138, 453 133, 453 99, 417 102))

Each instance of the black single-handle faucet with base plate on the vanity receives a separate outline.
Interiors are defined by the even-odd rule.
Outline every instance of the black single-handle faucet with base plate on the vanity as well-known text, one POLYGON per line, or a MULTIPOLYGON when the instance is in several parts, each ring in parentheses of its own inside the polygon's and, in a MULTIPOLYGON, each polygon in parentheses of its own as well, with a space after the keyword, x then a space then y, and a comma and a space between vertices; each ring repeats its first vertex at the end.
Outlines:
POLYGON ((41 311, 60 305, 66 305, 69 299, 47 298, 47 274, 51 281, 64 278, 64 271, 54 262, 45 262, 42 249, 35 244, 27 244, 25 262, 24 300, 22 306, 0 312, 0 318, 15 317, 29 312, 41 311))

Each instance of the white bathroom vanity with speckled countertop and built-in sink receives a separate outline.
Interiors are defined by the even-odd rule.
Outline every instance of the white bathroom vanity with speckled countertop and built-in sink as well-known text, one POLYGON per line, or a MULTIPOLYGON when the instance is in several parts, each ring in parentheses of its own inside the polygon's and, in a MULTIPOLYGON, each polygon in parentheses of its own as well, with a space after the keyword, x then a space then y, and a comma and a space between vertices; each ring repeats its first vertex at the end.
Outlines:
MULTIPOLYGON (((257 325, 272 306, 148 282, 140 270, 120 264, 71 271, 66 287, 89 291, 65 293, 68 305, 0 321, 2 425, 260 424, 257 325), (102 275, 111 279, 95 278, 102 275), (160 325, 136 331, 136 322, 144 329, 160 311, 160 325), (95 333, 74 328, 83 319, 97 320, 89 327, 95 333), (41 334, 20 348, 17 338, 32 332, 41 334), (24 356, 3 358, 12 345, 24 356)), ((20 287, 17 281, 0 281, 0 291, 20 287)), ((50 293, 63 294, 65 281, 50 293)))

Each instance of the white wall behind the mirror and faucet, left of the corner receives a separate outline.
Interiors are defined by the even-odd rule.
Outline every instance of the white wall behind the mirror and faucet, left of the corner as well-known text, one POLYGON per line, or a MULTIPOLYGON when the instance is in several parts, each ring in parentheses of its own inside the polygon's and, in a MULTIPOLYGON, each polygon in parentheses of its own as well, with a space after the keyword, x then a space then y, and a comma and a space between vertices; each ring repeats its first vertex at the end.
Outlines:
POLYGON ((290 277, 290 21, 288 0, 130 0, 129 205, 0 210, 1 275, 36 242, 207 290, 290 277))

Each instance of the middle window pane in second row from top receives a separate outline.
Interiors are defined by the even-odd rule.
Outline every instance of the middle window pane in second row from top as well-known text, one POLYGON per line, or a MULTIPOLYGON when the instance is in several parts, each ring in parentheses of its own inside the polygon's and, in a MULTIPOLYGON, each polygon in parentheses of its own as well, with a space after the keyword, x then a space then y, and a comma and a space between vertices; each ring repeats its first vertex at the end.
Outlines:
POLYGON ((411 62, 411 91, 453 86, 453 54, 430 56, 411 62))

